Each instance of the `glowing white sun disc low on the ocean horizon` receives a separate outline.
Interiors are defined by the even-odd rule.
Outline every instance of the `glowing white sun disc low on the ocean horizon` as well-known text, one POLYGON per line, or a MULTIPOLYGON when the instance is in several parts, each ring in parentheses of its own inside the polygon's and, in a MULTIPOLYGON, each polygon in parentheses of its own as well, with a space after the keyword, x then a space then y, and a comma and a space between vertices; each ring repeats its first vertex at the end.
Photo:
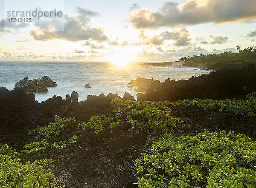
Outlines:
POLYGON ((125 67, 127 63, 131 63, 134 61, 134 55, 129 52, 125 51, 124 49, 120 49, 115 51, 109 60, 117 66, 125 67))

